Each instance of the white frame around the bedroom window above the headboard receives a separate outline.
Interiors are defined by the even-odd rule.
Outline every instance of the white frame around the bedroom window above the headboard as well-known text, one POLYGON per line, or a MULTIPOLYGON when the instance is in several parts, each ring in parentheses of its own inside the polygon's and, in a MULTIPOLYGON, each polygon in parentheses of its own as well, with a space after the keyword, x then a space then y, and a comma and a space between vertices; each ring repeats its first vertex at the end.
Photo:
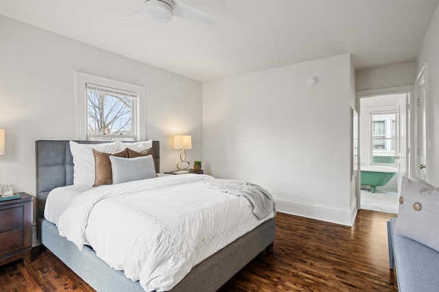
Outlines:
POLYGON ((134 128, 136 138, 134 141, 145 140, 145 88, 143 86, 112 80, 106 77, 100 77, 80 71, 75 71, 75 97, 76 97, 76 116, 78 118, 76 136, 79 140, 87 140, 87 84, 96 84, 108 88, 117 88, 119 90, 132 92, 137 95, 136 106, 134 106, 132 127, 134 128))

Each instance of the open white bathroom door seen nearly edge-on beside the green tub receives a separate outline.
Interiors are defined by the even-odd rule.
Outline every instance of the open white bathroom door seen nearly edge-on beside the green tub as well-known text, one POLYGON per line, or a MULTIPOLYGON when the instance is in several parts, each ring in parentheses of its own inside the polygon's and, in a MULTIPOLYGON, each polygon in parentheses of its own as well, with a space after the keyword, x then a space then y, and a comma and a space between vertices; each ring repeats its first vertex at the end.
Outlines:
POLYGON ((398 165, 398 193, 401 193, 401 182, 403 181, 403 176, 407 176, 407 101, 410 96, 407 93, 405 98, 401 98, 398 100, 398 129, 397 135, 398 139, 396 140, 396 163, 398 165))

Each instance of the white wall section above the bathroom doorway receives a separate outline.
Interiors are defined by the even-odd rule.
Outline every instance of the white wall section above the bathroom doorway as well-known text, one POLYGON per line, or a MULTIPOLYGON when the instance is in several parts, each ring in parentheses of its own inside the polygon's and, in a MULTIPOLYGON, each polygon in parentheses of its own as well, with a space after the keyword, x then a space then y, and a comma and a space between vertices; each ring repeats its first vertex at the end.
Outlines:
POLYGON ((357 70, 355 77, 355 90, 357 91, 413 85, 416 79, 416 63, 357 70))

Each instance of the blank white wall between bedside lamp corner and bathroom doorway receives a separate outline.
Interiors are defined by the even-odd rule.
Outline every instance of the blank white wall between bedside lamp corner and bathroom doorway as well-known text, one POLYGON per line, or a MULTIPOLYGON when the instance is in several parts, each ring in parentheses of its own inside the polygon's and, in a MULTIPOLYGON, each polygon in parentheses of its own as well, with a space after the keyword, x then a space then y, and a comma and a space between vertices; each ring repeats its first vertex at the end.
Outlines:
POLYGON ((349 54, 204 82, 204 169, 260 184, 279 211, 351 225, 352 84, 349 54))

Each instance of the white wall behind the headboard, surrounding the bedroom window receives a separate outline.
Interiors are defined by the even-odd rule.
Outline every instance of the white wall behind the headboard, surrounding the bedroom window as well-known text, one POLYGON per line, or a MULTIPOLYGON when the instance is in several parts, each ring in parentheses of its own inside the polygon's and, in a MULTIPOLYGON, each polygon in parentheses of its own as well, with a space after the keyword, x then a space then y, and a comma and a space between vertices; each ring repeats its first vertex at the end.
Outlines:
MULTIPOLYGON (((176 169, 174 134, 192 135, 188 160, 202 157, 202 84, 0 16, 0 184, 35 195, 38 139, 75 139, 75 71, 146 88, 147 139, 161 141, 161 170, 176 169)), ((117 40, 115 40, 117 41, 117 40)))

